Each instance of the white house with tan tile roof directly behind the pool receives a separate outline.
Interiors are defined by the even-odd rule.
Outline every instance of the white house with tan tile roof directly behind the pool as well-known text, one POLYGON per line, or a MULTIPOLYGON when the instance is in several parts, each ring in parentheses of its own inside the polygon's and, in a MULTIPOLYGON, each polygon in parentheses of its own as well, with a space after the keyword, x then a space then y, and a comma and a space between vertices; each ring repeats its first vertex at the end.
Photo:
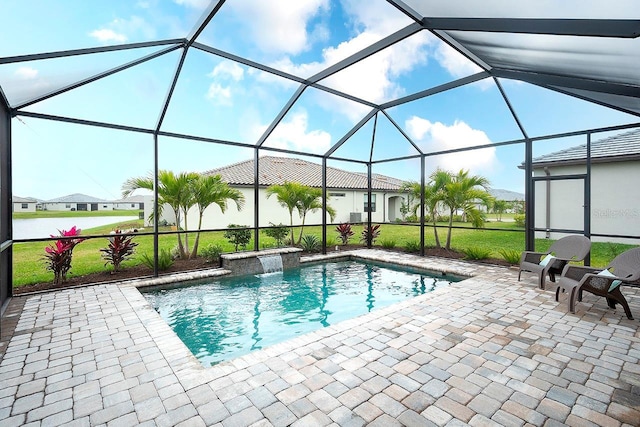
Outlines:
MULTIPOLYGON (((301 159, 288 157, 265 156, 259 161, 259 226, 268 227, 273 224, 289 225, 289 212, 278 204, 276 196, 267 198, 266 188, 273 184, 284 184, 285 181, 299 182, 311 187, 322 187, 322 165, 301 159)), ((229 166, 205 172, 206 175, 220 175, 231 187, 240 190, 245 197, 245 206, 241 211, 235 203, 229 203, 225 214, 217 205, 205 211, 202 228, 226 228, 229 224, 253 226, 254 224, 254 161, 247 160, 229 166)), ((403 181, 384 175, 372 175, 371 220, 373 222, 393 222, 401 218, 400 205, 404 200, 400 187, 403 181)), ((329 205, 337 213, 334 222, 360 223, 367 221, 367 176, 366 174, 349 172, 327 167, 327 193, 329 205)), ((145 218, 149 218, 151 203, 145 205, 145 218)), ((294 224, 301 219, 294 211, 294 224)), ((171 209, 163 210, 162 218, 175 223, 171 209)), ((330 218, 327 215, 327 222, 330 218)), ((305 224, 322 223, 320 210, 307 214, 305 224)), ((189 229, 198 224, 197 209, 192 209, 187 218, 189 229)))

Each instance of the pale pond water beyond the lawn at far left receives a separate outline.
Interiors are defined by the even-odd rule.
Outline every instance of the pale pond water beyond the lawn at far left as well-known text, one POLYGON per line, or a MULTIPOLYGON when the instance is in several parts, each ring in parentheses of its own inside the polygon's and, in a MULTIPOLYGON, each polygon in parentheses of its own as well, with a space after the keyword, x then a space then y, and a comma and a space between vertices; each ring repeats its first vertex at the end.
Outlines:
POLYGON ((83 230, 102 225, 117 224, 123 221, 137 220, 137 216, 92 216, 73 218, 34 218, 14 219, 14 239, 38 239, 57 235, 58 230, 69 230, 74 225, 83 230))

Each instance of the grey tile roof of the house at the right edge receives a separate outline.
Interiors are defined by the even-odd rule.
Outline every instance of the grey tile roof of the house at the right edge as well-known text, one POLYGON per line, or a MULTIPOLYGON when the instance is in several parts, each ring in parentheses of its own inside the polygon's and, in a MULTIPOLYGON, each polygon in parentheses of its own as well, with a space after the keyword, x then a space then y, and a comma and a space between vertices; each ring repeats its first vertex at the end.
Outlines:
MULTIPOLYGON (((556 162, 584 162, 587 144, 535 157, 533 164, 556 162)), ((597 162, 640 158, 640 129, 591 141, 591 159, 597 162)))

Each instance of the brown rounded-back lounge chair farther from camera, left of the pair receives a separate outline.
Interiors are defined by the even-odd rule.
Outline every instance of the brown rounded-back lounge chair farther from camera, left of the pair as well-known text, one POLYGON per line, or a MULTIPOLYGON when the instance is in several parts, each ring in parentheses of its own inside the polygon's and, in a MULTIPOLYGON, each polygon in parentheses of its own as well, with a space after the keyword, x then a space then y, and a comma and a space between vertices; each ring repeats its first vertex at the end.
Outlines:
POLYGON ((582 261, 590 250, 591 240, 588 237, 576 235, 556 240, 547 252, 524 251, 520 257, 518 281, 523 271, 535 273, 538 275, 538 286, 544 289, 547 275, 552 282, 555 282, 556 274, 562 273, 562 269, 569 261, 582 261))

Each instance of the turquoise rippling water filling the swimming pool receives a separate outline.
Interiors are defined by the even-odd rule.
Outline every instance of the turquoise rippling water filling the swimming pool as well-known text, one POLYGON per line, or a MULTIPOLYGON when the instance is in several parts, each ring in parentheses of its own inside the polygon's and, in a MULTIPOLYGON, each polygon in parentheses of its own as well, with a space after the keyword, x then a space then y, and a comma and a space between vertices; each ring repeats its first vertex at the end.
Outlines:
POLYGON ((458 280, 345 261, 199 281, 143 295, 209 366, 458 280))

